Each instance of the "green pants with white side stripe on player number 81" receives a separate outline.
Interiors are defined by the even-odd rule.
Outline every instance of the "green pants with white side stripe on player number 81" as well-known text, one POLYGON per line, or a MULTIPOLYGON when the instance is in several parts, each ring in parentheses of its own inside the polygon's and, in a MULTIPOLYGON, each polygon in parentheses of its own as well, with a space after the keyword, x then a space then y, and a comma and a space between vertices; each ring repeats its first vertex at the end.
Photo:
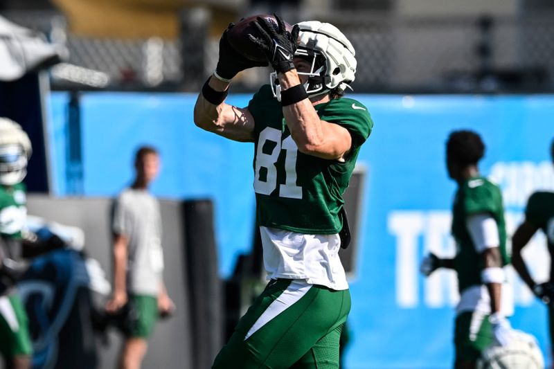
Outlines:
POLYGON ((212 368, 339 368, 350 291, 271 280, 242 316, 212 368))

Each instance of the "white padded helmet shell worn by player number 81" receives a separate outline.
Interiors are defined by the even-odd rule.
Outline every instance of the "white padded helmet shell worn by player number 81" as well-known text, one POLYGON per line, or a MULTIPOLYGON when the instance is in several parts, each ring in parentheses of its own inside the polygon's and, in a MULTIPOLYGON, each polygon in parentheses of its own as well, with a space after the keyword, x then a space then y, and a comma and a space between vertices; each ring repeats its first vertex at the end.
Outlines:
POLYGON ((356 73, 356 51, 350 41, 330 23, 302 21, 298 23, 298 49, 319 52, 325 57, 325 77, 323 83, 328 89, 338 87, 342 91, 352 82, 356 73))

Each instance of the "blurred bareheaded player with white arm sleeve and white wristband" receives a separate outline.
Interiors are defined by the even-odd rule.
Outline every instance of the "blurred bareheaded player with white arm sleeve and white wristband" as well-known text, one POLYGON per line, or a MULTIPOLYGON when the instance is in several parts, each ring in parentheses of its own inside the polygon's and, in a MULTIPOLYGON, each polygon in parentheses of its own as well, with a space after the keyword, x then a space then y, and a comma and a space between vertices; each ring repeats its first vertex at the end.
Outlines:
POLYGON ((509 289, 504 288, 508 263, 502 195, 479 173, 477 163, 485 145, 471 131, 456 131, 447 141, 447 169, 458 183, 454 198, 452 235, 454 259, 429 255, 421 269, 429 276, 438 267, 458 275, 460 302, 456 307, 455 368, 475 368, 481 351, 493 340, 506 345, 512 332, 506 319, 512 314, 509 289))

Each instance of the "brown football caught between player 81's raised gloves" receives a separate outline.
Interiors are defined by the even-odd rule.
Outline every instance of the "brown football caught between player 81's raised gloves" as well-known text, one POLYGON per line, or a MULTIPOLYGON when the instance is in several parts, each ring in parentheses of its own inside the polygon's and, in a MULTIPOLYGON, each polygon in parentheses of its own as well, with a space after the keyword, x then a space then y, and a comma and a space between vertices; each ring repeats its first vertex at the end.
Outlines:
MULTIPOLYGON (((273 22, 277 26, 277 21, 273 15, 259 14, 252 15, 251 17, 241 19, 227 34, 227 40, 231 47, 235 49, 237 53, 246 57, 249 60, 255 62, 263 62, 266 59, 265 55, 260 51, 258 46, 254 44, 248 35, 253 35, 258 37, 258 28, 254 26, 256 18, 261 17, 267 19, 267 21, 273 22)), ((292 31, 292 26, 285 21, 285 28, 290 32, 292 31)))

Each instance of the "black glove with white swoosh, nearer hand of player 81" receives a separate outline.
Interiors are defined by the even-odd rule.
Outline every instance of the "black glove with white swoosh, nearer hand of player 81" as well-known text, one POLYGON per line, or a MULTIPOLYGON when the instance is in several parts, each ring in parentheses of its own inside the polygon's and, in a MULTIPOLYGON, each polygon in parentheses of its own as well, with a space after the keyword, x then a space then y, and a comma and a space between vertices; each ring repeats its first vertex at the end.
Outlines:
POLYGON ((265 54, 277 73, 285 73, 294 69, 292 58, 296 51, 296 40, 300 28, 294 26, 292 32, 287 31, 285 22, 274 15, 277 26, 271 21, 258 17, 254 25, 258 28, 258 37, 249 35, 252 42, 265 54))

